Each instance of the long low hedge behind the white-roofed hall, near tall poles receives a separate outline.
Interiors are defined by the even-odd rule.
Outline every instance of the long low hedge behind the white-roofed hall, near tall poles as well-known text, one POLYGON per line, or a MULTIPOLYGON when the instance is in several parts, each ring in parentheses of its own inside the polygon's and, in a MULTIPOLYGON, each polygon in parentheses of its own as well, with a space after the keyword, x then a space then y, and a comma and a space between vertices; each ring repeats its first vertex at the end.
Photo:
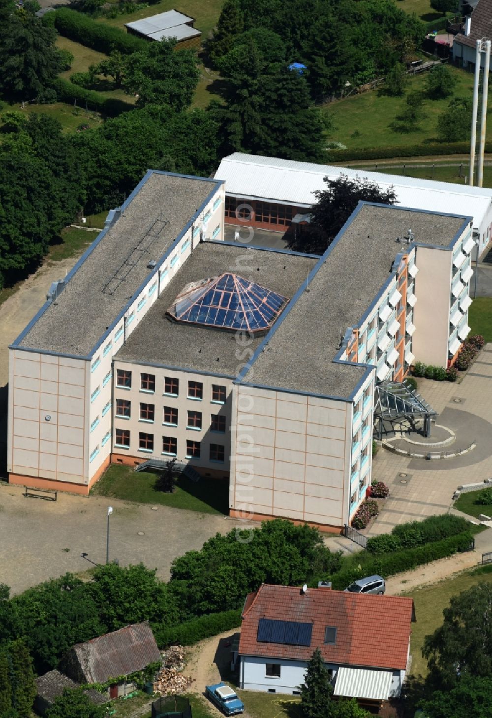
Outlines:
MULTIPOLYGON (((46 17, 46 16, 45 16, 46 17)), ((469 154, 468 142, 432 142, 401 147, 368 147, 327 151, 328 162, 348 162, 351 159, 394 159, 397 157, 432 157, 436 154, 469 154)), ((486 142, 486 152, 492 152, 492 141, 486 142)), ((466 164, 466 162, 463 162, 466 164)), ((368 167, 374 169, 373 167, 368 167)))

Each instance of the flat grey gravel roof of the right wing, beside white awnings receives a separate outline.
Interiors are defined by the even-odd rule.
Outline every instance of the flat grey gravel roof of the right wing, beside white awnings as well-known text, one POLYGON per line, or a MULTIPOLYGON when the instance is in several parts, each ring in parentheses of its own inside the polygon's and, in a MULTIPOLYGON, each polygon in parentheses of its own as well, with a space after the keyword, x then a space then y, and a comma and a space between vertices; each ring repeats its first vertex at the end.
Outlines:
MULTIPOLYGON (((466 218, 363 205, 243 378, 323 396, 349 397, 366 369, 333 363, 347 327, 358 325, 389 277, 396 237, 447 247, 466 218)), ((468 218, 470 219, 470 218, 468 218)))

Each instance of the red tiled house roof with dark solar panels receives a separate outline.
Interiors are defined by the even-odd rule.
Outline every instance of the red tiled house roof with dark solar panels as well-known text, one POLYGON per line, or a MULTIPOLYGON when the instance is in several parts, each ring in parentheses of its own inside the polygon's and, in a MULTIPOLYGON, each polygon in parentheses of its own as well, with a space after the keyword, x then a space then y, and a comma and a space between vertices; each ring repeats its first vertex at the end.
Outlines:
POLYGON ((319 646, 328 663, 404 670, 412 620, 412 598, 324 588, 302 594, 297 587, 263 584, 246 598, 239 653, 307 661, 319 646), (311 645, 259 643, 260 618, 312 623, 311 645), (335 645, 325 645, 326 626, 337 628, 335 645))

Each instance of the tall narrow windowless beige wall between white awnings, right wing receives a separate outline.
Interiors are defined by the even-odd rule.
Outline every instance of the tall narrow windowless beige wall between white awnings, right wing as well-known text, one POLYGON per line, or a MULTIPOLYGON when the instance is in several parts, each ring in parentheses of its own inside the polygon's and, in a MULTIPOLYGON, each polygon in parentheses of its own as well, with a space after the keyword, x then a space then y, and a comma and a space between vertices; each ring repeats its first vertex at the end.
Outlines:
POLYGON ((447 366, 452 252, 417 247, 412 353, 425 364, 447 366))

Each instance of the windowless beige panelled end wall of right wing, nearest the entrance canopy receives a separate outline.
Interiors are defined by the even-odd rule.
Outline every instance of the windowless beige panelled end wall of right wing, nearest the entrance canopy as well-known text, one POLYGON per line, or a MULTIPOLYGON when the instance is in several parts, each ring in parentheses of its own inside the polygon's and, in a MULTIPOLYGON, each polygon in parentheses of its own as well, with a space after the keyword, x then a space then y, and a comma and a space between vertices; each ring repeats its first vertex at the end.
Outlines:
POLYGON ((343 526, 352 404, 235 386, 230 510, 343 526))

